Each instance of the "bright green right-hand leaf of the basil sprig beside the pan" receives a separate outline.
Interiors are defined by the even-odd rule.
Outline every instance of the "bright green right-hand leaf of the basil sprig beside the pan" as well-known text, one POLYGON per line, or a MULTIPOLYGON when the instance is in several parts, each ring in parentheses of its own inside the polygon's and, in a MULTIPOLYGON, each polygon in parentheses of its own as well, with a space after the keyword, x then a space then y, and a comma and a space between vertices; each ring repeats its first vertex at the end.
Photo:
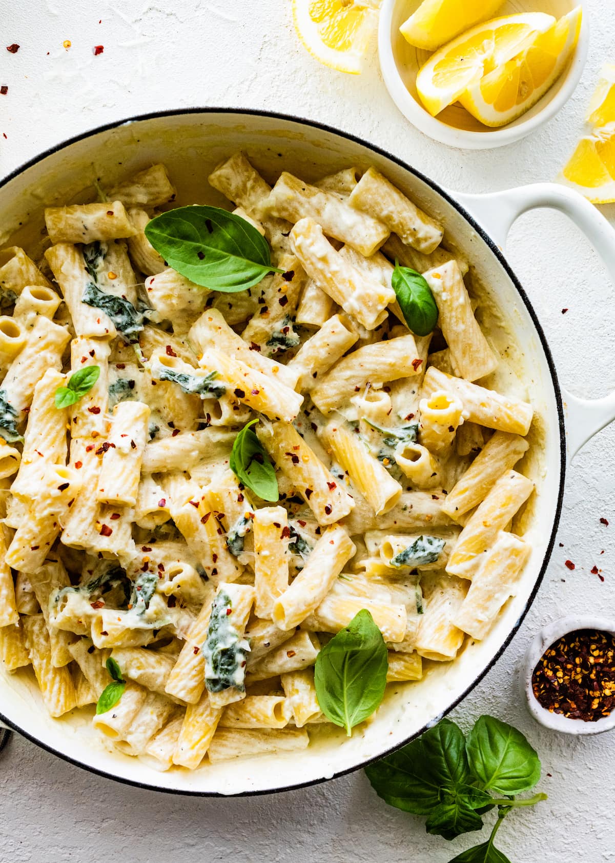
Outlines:
POLYGON ((470 769, 484 789, 515 795, 540 779, 540 759, 517 728, 494 716, 480 716, 466 744, 470 769))

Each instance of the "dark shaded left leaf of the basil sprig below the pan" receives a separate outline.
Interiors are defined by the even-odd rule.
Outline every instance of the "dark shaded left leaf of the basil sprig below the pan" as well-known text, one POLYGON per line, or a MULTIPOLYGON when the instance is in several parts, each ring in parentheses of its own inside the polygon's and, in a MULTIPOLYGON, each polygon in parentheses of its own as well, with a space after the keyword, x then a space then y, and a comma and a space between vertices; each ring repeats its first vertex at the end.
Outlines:
POLYGON ((430 815, 441 801, 441 790, 452 793, 472 782, 465 743, 461 728, 443 719, 365 772, 386 803, 413 815, 430 815))

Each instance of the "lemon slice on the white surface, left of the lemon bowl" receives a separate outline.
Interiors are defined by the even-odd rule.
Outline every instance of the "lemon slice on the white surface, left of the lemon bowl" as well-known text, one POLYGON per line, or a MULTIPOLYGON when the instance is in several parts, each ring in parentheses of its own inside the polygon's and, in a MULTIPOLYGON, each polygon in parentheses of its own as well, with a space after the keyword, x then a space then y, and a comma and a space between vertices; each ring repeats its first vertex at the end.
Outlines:
POLYGON ((380 0, 292 0, 292 20, 312 57, 338 72, 361 72, 378 26, 380 0))

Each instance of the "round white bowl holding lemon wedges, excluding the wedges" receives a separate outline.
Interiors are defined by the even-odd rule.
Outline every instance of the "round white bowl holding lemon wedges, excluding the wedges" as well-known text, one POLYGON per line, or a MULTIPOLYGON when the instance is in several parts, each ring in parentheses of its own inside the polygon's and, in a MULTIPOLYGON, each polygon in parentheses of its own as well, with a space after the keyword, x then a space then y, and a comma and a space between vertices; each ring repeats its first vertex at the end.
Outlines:
MULTIPOLYGON (((587 9, 584 9, 579 41, 568 66, 543 98, 522 117, 501 129, 490 129, 479 123, 459 104, 450 105, 437 117, 431 117, 429 111, 424 109, 415 85, 417 72, 430 56, 430 52, 409 45, 399 32, 399 26, 418 8, 419 2, 420 0, 383 0, 378 28, 378 54, 382 77, 393 102, 412 125, 425 135, 442 144, 449 144, 450 147, 471 150, 502 147, 504 144, 519 141, 543 123, 547 123, 572 96, 587 60, 587 9)), ((578 6, 579 2, 580 0, 509 0, 497 11, 496 16, 517 12, 547 12, 560 18, 578 6)))

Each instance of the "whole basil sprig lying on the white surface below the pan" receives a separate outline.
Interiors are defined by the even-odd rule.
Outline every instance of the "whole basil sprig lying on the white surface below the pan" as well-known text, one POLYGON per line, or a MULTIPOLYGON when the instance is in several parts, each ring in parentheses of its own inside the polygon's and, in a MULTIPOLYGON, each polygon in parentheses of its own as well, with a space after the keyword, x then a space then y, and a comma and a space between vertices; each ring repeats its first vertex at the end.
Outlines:
POLYGON ((493 716, 480 716, 468 738, 455 722, 443 719, 365 772, 386 803, 427 816, 427 832, 444 839, 480 830, 482 816, 497 806, 489 840, 450 863, 510 863, 493 840, 512 809, 546 800, 546 794, 515 797, 537 784, 540 771, 537 753, 520 731, 493 716))

